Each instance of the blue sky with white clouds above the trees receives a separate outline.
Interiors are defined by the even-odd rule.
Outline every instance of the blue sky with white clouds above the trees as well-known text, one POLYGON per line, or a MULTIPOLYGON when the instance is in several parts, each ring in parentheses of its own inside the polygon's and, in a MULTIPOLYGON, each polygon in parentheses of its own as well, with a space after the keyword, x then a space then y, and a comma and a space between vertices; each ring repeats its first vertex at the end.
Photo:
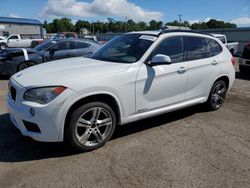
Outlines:
POLYGON ((178 19, 191 23, 211 18, 250 26, 250 0, 4 0, 0 16, 37 18, 40 21, 69 17, 73 21, 116 20, 163 22, 178 19))

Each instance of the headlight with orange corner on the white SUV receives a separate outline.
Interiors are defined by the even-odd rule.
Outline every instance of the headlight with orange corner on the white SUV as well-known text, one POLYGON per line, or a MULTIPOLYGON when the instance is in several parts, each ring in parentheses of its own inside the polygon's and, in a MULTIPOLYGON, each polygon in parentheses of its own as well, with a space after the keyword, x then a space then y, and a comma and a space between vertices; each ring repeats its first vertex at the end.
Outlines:
POLYGON ((60 95, 66 87, 55 86, 55 87, 41 87, 28 89, 23 98, 29 101, 34 101, 40 104, 47 104, 54 100, 58 95, 60 95))

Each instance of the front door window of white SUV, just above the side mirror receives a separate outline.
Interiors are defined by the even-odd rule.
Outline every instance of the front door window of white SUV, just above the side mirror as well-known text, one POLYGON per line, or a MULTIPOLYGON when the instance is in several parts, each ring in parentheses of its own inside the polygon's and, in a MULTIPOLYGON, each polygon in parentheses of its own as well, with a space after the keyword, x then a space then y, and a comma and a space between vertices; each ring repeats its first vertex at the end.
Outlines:
POLYGON ((157 54, 167 55, 172 63, 183 62, 184 45, 182 37, 167 38, 156 47, 153 56, 157 54))

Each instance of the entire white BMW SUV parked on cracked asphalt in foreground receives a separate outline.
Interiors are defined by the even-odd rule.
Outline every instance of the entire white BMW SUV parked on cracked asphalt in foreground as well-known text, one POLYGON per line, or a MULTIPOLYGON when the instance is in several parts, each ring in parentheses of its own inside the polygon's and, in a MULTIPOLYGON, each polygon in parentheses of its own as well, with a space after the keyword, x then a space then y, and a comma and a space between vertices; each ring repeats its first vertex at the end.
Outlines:
POLYGON ((210 35, 127 33, 90 59, 54 61, 13 75, 10 118, 35 140, 96 149, 117 125, 201 103, 219 109, 235 79, 232 62, 225 45, 210 35))

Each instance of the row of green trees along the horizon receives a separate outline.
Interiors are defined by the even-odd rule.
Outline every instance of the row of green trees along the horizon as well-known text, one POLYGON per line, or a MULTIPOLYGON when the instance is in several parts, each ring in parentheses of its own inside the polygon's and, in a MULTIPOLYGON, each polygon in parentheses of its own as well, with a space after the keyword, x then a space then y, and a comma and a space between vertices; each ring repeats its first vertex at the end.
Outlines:
POLYGON ((163 23, 162 21, 151 20, 148 24, 146 22, 135 22, 132 19, 128 21, 116 21, 113 18, 108 18, 106 22, 95 21, 89 22, 85 20, 78 20, 75 24, 69 18, 54 19, 52 22, 44 21, 43 27, 47 33, 57 33, 63 31, 72 31, 79 33, 82 28, 88 29, 91 33, 107 33, 107 32, 130 32, 141 30, 158 30, 166 26, 182 26, 191 29, 212 29, 212 28, 236 28, 233 23, 224 22, 220 20, 211 19, 208 22, 199 22, 190 24, 188 21, 179 22, 174 20, 172 22, 163 23))

